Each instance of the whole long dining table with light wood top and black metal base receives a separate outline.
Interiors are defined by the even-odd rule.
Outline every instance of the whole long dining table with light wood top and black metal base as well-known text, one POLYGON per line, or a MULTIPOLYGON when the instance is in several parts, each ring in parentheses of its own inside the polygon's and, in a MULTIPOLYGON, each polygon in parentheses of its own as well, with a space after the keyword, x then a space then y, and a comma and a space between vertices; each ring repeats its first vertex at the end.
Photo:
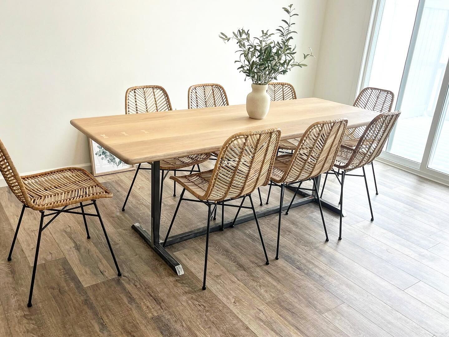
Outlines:
MULTIPOLYGON (((368 125, 378 113, 320 98, 300 98, 270 103, 268 115, 261 120, 251 119, 246 106, 229 105, 201 109, 159 111, 151 113, 110 115, 79 118, 70 121, 76 129, 103 146, 111 154, 127 164, 151 165, 150 224, 145 219, 132 224, 132 228, 167 263, 177 275, 184 274, 180 263, 165 247, 206 234, 206 226, 172 235, 165 247, 160 241, 160 168, 159 161, 199 153, 220 151, 223 143, 235 133, 260 129, 281 129, 281 140, 300 138, 313 123, 322 120, 348 119, 348 129, 368 125)), ((320 177, 317 178, 319 190, 320 177)), ((294 191, 295 187, 291 187, 294 191)), ((308 203, 317 203, 314 192, 300 191, 302 197, 293 202, 291 208, 308 203)), ((335 213, 340 208, 321 199, 321 205, 335 213)), ((257 212, 257 217, 278 213, 279 207, 266 207, 257 212)), ((235 220, 235 225, 254 220, 246 214, 235 220)), ((233 220, 225 222, 228 228, 233 220)), ((218 231, 221 223, 210 227, 218 231)))

